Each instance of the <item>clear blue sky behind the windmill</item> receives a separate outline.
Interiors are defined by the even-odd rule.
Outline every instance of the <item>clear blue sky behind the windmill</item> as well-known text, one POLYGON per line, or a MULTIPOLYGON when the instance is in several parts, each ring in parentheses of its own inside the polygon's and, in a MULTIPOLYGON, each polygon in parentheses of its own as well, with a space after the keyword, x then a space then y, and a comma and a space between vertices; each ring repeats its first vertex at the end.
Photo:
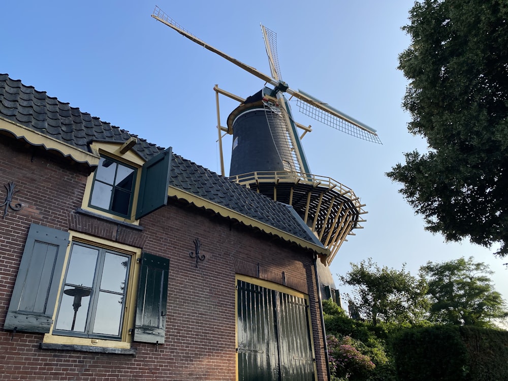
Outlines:
MULTIPOLYGON (((416 274, 427 261, 474 256, 495 271, 496 288, 506 298, 502 263, 508 259, 425 232, 422 217, 397 193, 400 186, 384 176, 403 152, 426 147, 407 132, 409 115, 400 106, 406 80, 396 70, 398 54, 409 45, 400 27, 412 4, 156 3, 194 35, 269 74, 263 23, 277 33, 282 78, 290 87, 377 130, 383 145, 314 122, 293 105, 296 120, 313 128, 303 139, 312 173, 353 188, 369 212, 364 229, 337 253, 332 273, 344 274, 350 262, 368 257, 398 269, 405 262, 416 274)), ((3 2, 0 72, 220 172, 213 85, 246 98, 264 83, 151 18, 154 6, 146 0, 3 2)), ((221 98, 221 124, 236 105, 221 98)), ((225 151, 230 147, 228 137, 225 151)))

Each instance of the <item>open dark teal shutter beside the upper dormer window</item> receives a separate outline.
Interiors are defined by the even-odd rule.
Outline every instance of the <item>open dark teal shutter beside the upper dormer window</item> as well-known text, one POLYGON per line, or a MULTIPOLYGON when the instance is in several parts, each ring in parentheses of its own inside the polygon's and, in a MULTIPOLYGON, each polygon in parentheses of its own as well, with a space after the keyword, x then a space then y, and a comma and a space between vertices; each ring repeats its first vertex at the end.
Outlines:
POLYGON ((171 147, 147 161, 141 168, 141 182, 136 207, 136 219, 167 205, 171 147))

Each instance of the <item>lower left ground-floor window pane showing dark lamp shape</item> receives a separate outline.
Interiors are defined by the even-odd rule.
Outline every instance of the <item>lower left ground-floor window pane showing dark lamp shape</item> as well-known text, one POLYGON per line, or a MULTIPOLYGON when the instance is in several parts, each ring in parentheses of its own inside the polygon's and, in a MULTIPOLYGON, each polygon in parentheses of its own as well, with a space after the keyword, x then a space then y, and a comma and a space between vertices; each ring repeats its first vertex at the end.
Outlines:
POLYGON ((84 332, 90 304, 90 290, 66 286, 56 317, 56 329, 84 332))

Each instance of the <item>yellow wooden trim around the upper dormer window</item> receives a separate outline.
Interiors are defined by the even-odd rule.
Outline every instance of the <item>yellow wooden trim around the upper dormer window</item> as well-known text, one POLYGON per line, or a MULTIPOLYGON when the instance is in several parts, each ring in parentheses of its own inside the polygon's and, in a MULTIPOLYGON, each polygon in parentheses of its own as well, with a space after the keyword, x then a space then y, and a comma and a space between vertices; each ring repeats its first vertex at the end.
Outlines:
MULTIPOLYGON (((135 139, 135 138, 132 138, 135 139)), ((129 142, 129 141, 128 141, 129 142)), ((126 142, 126 143, 128 143, 126 142)), ((139 192, 139 184, 141 182, 141 167, 145 164, 145 161, 141 156, 137 153, 132 152, 132 150, 128 150, 125 153, 121 153, 122 147, 125 146, 125 143, 122 142, 93 142, 90 144, 91 150, 97 154, 99 157, 101 155, 111 157, 113 160, 117 160, 120 163, 125 163, 130 165, 131 167, 135 167, 137 169, 136 180, 134 185, 134 195, 131 207, 131 218, 125 218, 118 216, 113 213, 105 212, 104 210, 95 209, 93 207, 88 206, 91 197, 91 190, 93 186, 93 177, 94 173, 90 173, 88 178, 86 179, 85 193, 83 195, 83 200, 81 202, 81 209, 87 210, 92 213, 101 214, 106 217, 110 217, 116 219, 118 221, 123 221, 133 225, 139 225, 139 220, 136 219, 136 207, 138 204, 138 192, 139 192)), ((98 163, 99 165, 99 163, 98 163)))

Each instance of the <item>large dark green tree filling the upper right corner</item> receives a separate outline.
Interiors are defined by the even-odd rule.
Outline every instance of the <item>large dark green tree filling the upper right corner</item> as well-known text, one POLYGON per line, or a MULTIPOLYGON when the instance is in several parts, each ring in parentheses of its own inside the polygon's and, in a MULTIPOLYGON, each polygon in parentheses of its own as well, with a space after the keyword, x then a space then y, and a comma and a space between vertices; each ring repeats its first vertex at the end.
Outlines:
POLYGON ((387 176, 425 229, 508 253, 508 2, 423 0, 403 30, 408 130, 429 151, 405 153, 387 176))

